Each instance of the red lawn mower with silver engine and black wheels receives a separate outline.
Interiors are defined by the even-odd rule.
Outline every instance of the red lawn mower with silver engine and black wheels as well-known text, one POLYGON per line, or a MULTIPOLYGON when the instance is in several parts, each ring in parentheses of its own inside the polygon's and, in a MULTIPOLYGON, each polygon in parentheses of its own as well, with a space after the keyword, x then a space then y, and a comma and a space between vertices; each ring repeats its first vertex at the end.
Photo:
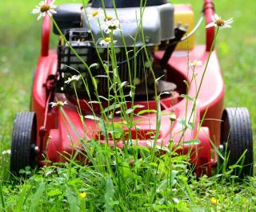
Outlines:
MULTIPOLYGON (((49 161, 65 161, 74 150, 82 149, 78 142, 80 135, 87 141, 96 139, 120 149, 128 139, 145 147, 156 143, 169 148, 171 144, 180 155, 190 153, 190 163, 197 176, 212 175, 212 168, 226 160, 227 167, 241 166, 240 175, 253 175, 250 116, 246 108, 224 108, 225 85, 214 49, 215 28, 206 28, 205 45, 194 45, 194 32, 203 18, 206 24, 212 22, 214 3, 204 0, 202 18, 194 25, 190 5, 174 5, 167 0, 103 2, 104 6, 101 0, 93 0, 85 8, 77 3, 56 8, 53 18, 58 27, 54 26, 53 31, 58 36, 63 33, 68 41, 61 37, 57 49, 49 49, 52 22, 49 16, 44 18, 30 112, 19 112, 14 120, 11 173, 18 174, 27 166, 44 166, 49 161), (111 94, 108 89, 111 85, 106 77, 98 76, 106 75, 107 66, 109 77, 113 78, 114 65, 106 63, 107 45, 98 43, 102 38, 98 18, 89 18, 94 10, 103 7, 120 24, 113 38, 118 77, 125 84, 136 78, 134 105, 140 105, 132 111, 136 126, 122 128, 123 135, 129 134, 129 138, 125 136, 118 141, 103 132, 99 124, 102 108, 95 95, 97 89, 98 96, 102 96, 103 110, 110 109, 106 96, 111 94), (138 33, 141 28, 143 34, 138 33), (70 46, 90 67, 93 76, 70 46), (192 72, 188 64, 194 60, 202 61, 202 66, 192 72), (87 87, 84 80, 78 80, 74 92, 66 81, 78 73, 86 80, 87 87), (155 94, 160 96, 158 101, 155 94), (67 103, 62 106, 66 116, 59 107, 50 106, 50 102, 56 101, 67 103), (142 110, 148 112, 142 114, 142 110), (155 111, 159 110, 157 115, 155 111), (97 118, 82 120, 81 115, 97 118), (152 135, 157 138, 153 139, 152 135), (220 153, 226 158, 219 157, 220 153)), ((126 106, 130 108, 130 86, 123 86, 122 92, 128 96, 126 106)), ((113 114, 112 120, 120 122, 118 113, 113 114)))

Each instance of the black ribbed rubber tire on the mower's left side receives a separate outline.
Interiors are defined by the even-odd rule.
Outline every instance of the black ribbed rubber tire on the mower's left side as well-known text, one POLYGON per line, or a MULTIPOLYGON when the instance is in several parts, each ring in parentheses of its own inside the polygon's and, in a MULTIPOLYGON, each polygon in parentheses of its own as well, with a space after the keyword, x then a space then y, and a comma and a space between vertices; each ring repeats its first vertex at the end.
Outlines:
POLYGON ((37 120, 34 112, 18 112, 14 120, 10 150, 10 172, 18 175, 25 167, 34 167, 37 120))

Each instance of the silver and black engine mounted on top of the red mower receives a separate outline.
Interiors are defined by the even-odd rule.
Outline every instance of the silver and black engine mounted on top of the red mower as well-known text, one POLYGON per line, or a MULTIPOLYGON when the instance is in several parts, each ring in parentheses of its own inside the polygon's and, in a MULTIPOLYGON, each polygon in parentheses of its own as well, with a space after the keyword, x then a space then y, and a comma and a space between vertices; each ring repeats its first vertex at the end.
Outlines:
MULTIPOLYGON (((90 14, 93 14, 99 7, 102 7, 101 0, 94 0, 86 7, 86 10, 78 4, 63 4, 58 6, 58 13, 54 14, 54 19, 70 45, 90 67, 90 71, 96 79, 99 95, 107 96, 109 94, 107 89, 110 87, 108 85, 109 79, 104 77, 106 76, 105 69, 108 67, 110 79, 116 77, 118 72, 118 77, 122 82, 129 84, 135 82, 135 96, 139 96, 140 99, 143 96, 153 97, 154 77, 150 69, 153 69, 155 77, 161 77, 165 74, 165 65, 157 65, 154 61, 154 49, 159 49, 159 47, 166 49, 164 56, 166 58, 162 58, 162 64, 165 64, 174 50, 172 42, 176 41, 177 43, 177 31, 174 29, 174 6, 166 0, 148 0, 145 8, 140 6, 140 1, 116 1, 115 7, 118 10, 115 10, 112 0, 105 0, 107 16, 118 19, 120 23, 120 30, 114 34, 113 38, 118 70, 114 69, 114 65, 112 67, 109 60, 108 51, 110 48, 107 45, 100 45, 102 40, 100 23, 106 18, 105 15, 89 18, 90 14), (116 12, 118 18, 116 18, 116 12), (146 50, 143 48, 145 45, 146 50), (128 56, 126 52, 128 52, 128 56)), ((54 32, 58 33, 57 29, 54 29, 54 32)), ((110 35, 104 33, 104 37, 110 37, 110 35)), ((58 45, 56 91, 66 94, 74 93, 72 84, 66 84, 65 81, 79 73, 86 79, 90 93, 94 93, 93 83, 95 80, 93 82, 86 66, 61 40, 58 45)), ((165 80, 159 80, 157 87, 158 92, 169 92, 174 90, 175 85, 165 80)), ((76 83, 76 90, 79 96, 86 96, 86 89, 82 80, 76 83)), ((125 88, 123 92, 127 95, 130 88, 125 88)))

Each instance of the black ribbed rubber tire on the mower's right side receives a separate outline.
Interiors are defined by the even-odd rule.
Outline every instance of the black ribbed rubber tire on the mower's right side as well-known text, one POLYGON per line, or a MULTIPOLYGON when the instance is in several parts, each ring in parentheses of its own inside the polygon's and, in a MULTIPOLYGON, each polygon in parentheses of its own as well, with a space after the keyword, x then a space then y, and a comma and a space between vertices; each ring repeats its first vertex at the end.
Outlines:
POLYGON ((235 169, 235 175, 240 178, 254 174, 254 147, 253 133, 250 124, 250 115, 246 108, 226 108, 222 114, 221 144, 226 155, 229 154, 227 167, 238 162, 246 151, 244 159, 235 169))

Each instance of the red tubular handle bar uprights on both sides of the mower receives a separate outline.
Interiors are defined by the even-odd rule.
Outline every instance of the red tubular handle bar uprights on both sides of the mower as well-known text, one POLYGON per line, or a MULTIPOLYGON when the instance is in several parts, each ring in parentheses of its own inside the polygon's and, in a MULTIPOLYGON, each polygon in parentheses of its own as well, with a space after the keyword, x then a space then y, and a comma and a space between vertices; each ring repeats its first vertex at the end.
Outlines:
MULTIPOLYGON (((51 0, 46 0, 49 4, 51 0)), ((212 16, 214 15, 214 2, 213 0, 204 0, 203 13, 206 17, 206 25, 212 22, 212 16)), ((41 43, 41 56, 47 57, 49 54, 49 45, 50 45, 50 29, 51 29, 51 20, 48 15, 43 18, 42 22, 42 43, 41 43)), ((206 51, 209 52, 211 45, 214 41, 215 28, 210 27, 206 29, 206 51)), ((214 48, 214 46, 213 46, 214 48)))

